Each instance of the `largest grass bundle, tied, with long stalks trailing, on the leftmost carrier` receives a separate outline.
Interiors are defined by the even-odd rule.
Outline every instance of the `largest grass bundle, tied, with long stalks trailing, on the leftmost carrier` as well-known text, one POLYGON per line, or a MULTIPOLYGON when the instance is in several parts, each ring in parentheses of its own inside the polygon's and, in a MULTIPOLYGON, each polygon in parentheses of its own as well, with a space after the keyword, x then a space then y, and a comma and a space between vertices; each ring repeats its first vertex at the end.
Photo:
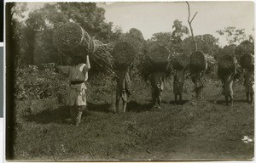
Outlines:
MULTIPOLYGON (((63 57, 75 58, 90 55, 90 74, 113 73, 113 57, 108 53, 107 45, 95 40, 77 23, 61 24, 53 35, 55 47, 63 57)), ((84 60, 85 62, 85 60, 84 60)))

